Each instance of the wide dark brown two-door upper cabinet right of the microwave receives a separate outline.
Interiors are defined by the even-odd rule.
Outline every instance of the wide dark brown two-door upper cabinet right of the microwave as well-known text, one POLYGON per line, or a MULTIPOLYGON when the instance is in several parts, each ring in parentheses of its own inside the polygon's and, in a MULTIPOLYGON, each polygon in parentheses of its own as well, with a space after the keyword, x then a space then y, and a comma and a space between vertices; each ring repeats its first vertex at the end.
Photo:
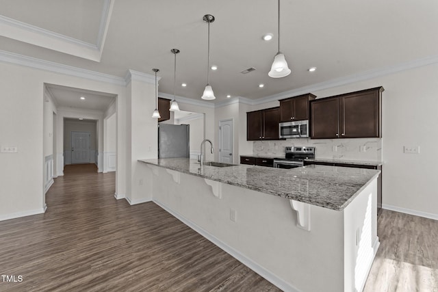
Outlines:
POLYGON ((310 102, 311 138, 382 137, 383 87, 310 102))

